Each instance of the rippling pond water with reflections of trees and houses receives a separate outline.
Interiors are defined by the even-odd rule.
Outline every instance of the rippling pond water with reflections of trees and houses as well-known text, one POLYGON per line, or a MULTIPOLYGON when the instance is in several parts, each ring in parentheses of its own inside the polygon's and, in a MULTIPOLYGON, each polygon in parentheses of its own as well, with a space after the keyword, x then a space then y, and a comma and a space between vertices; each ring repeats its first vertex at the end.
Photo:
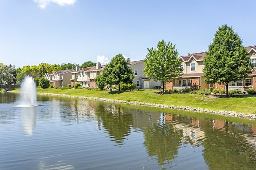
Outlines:
POLYGON ((0 170, 256 167, 256 122, 204 113, 0 93, 0 170))

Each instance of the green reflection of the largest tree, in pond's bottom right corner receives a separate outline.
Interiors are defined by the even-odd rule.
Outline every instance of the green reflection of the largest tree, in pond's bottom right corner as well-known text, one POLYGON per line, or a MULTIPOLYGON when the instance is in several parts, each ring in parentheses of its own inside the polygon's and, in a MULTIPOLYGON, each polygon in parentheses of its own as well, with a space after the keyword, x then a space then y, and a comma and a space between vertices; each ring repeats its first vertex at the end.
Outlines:
POLYGON ((205 130, 203 141, 204 159, 210 169, 253 169, 256 164, 256 150, 251 147, 238 131, 229 130, 225 122, 225 130, 205 130))

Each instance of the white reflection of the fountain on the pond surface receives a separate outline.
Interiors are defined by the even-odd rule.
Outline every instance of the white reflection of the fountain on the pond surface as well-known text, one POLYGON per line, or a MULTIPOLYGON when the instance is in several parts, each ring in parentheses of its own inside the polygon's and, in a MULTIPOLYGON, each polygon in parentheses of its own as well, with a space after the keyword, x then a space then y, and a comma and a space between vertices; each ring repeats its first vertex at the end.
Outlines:
POLYGON ((20 108, 22 114, 22 127, 24 135, 31 136, 35 129, 35 110, 36 107, 20 108))

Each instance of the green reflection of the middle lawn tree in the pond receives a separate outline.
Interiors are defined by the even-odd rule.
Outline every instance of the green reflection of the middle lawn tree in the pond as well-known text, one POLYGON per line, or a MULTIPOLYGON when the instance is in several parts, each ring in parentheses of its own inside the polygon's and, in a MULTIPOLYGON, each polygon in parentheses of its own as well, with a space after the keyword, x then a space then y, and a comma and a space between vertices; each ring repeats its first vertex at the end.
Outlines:
POLYGON ((145 127, 144 145, 148 156, 156 156, 159 164, 170 161, 178 153, 182 133, 175 129, 172 123, 154 123, 145 127))

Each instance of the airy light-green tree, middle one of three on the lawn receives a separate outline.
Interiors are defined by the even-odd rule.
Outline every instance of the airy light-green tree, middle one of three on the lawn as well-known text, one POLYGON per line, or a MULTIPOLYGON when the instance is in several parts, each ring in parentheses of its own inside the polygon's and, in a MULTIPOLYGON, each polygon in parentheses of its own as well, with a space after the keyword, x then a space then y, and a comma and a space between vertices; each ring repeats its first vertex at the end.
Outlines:
POLYGON ((166 82, 171 82, 173 78, 179 77, 182 74, 180 67, 181 61, 178 58, 178 51, 175 45, 164 40, 157 44, 157 49, 148 48, 148 54, 143 59, 145 67, 143 69, 145 77, 161 81, 164 86, 166 82))

